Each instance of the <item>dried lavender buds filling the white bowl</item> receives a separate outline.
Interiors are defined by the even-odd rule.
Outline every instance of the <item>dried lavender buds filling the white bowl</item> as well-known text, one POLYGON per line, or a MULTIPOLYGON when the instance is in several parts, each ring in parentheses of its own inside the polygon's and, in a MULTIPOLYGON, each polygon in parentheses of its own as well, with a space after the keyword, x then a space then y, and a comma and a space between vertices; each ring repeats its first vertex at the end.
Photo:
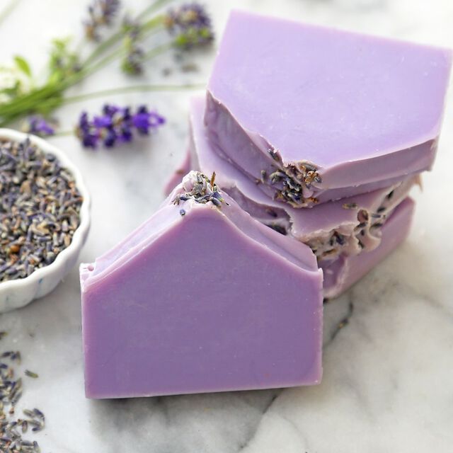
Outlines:
POLYGON ((82 202, 53 154, 0 140, 0 282, 52 263, 72 241, 82 202))

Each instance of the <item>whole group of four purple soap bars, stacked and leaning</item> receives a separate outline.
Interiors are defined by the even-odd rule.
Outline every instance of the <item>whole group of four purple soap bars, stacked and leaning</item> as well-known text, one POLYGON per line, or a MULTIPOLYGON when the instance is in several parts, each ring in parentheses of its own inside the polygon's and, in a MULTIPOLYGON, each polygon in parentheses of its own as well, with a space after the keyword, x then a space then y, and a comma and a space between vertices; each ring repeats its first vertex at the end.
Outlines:
POLYGON ((167 199, 81 265, 86 396, 319 383, 323 297, 406 238, 450 64, 231 13, 167 199))

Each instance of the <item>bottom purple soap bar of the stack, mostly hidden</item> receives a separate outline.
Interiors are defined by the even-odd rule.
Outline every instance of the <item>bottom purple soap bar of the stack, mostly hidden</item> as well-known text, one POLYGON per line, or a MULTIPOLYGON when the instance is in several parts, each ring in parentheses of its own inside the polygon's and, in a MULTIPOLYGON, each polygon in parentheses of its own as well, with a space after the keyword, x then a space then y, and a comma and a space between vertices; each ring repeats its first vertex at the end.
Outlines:
POLYGON ((338 260, 322 261, 324 272, 324 297, 336 297, 354 285, 374 266, 389 256, 406 239, 413 217, 415 202, 406 197, 382 226, 382 239, 377 248, 360 255, 342 255, 338 260))

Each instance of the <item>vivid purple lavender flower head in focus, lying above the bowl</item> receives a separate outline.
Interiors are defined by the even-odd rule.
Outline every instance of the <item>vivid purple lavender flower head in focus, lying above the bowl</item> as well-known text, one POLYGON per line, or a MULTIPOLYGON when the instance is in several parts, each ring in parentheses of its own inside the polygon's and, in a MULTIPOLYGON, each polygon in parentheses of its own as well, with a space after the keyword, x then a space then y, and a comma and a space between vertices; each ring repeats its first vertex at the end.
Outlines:
POLYGON ((111 148, 118 143, 132 142, 134 132, 148 135, 165 123, 165 118, 156 111, 149 111, 146 105, 140 105, 135 113, 130 107, 120 108, 106 104, 102 115, 94 115, 91 120, 83 112, 76 127, 76 136, 86 148, 95 149, 98 144, 111 148))

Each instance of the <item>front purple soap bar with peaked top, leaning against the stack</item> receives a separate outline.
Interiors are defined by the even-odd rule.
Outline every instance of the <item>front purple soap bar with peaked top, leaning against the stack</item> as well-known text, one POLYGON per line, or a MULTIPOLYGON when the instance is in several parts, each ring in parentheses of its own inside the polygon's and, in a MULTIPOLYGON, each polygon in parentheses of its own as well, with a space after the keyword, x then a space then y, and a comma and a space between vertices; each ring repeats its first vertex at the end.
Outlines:
POLYGON ((88 398, 320 382, 316 258, 201 173, 81 265, 81 291, 88 398))

